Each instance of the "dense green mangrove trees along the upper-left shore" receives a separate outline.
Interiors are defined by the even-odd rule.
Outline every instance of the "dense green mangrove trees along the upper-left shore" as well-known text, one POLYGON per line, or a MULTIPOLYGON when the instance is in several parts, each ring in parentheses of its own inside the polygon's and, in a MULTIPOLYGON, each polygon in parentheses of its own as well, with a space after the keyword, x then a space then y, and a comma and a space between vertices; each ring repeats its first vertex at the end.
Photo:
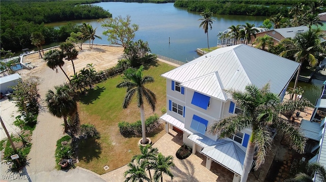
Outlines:
POLYGON ((85 5, 97 2, 100 1, 2 1, 0 46, 13 51, 31 47, 33 32, 41 32, 46 44, 65 41, 76 31, 75 25, 69 24, 58 30, 44 23, 112 17, 101 7, 85 5))

